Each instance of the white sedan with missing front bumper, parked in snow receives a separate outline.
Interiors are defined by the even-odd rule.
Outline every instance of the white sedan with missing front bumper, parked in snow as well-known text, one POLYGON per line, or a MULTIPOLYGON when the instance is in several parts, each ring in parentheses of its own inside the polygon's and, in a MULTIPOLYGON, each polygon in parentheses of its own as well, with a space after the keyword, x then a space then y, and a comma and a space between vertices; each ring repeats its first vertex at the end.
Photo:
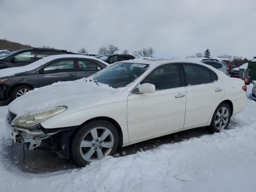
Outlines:
POLYGON ((200 62, 127 60, 17 98, 6 129, 29 150, 58 149, 84 166, 118 146, 202 126, 219 132, 246 99, 244 81, 200 62))

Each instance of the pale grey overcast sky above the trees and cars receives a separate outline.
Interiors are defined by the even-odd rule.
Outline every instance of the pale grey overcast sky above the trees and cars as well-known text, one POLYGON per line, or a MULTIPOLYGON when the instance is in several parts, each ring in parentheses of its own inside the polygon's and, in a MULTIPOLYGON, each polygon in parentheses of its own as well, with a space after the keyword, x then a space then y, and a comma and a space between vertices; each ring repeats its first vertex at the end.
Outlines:
POLYGON ((0 20, 0 38, 35 47, 256 56, 256 0, 0 0, 0 20))

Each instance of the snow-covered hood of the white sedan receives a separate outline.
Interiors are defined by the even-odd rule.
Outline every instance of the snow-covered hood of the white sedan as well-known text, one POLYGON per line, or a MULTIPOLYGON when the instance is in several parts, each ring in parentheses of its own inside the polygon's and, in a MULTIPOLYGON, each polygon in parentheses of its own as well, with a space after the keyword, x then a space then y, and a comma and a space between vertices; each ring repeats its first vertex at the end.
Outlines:
MULTIPOLYGON (((111 88, 106 84, 98 85, 85 79, 58 82, 42 88, 36 88, 11 102, 8 110, 18 114, 35 114, 52 109, 54 106, 67 106, 67 111, 80 110, 113 102, 121 98, 125 91, 111 88)), ((18 117, 17 116, 17 117, 18 117)))

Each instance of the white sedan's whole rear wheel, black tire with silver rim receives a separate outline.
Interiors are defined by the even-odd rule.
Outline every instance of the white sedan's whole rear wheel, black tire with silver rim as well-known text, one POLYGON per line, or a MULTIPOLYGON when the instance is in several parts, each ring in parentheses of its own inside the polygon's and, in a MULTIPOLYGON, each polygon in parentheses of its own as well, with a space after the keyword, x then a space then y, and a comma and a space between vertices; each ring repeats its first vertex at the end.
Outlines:
POLYGON ((221 103, 216 108, 212 116, 212 122, 210 126, 208 126, 209 130, 211 132, 220 132, 223 129, 227 129, 228 124, 230 122, 230 118, 231 118, 230 106, 226 103, 221 103))

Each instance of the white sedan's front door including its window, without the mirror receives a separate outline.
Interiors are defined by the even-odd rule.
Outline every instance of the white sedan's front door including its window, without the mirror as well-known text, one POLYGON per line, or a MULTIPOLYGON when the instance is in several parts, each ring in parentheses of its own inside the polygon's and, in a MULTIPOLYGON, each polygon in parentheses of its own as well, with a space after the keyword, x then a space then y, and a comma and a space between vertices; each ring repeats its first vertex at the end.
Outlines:
POLYGON ((143 83, 154 84, 156 92, 140 94, 135 89, 128 96, 130 142, 154 138, 184 127, 186 88, 182 87, 179 64, 159 66, 140 84, 143 83))

